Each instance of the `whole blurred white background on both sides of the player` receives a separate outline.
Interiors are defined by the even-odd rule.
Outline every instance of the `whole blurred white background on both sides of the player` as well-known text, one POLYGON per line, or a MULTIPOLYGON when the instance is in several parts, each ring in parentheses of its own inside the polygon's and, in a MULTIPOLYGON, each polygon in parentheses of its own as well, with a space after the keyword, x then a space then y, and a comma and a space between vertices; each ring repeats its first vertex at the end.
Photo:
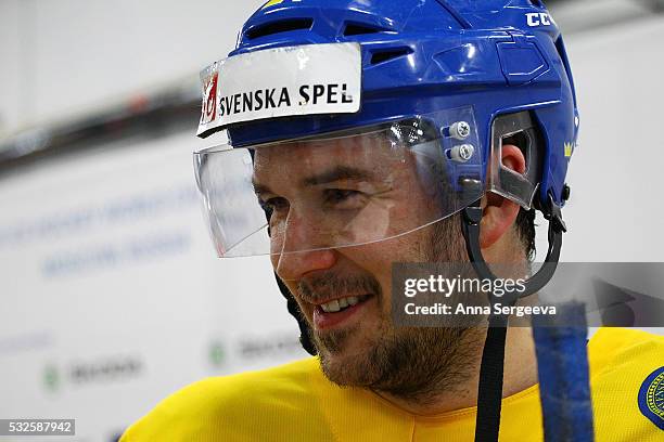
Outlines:
MULTIPOLYGON (((0 418, 114 441, 306 355, 269 261, 215 258, 192 172, 197 73, 261 3, 0 0, 0 418)), ((664 0, 547 4, 582 113, 563 260, 664 261, 664 0)))

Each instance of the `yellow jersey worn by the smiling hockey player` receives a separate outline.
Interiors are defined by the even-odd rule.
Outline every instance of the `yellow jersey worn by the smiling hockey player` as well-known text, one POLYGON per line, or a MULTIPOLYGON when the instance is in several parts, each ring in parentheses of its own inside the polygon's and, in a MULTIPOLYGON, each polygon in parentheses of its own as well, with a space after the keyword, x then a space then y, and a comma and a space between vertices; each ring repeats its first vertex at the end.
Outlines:
MULTIPOLYGON (((664 441, 664 337, 602 328, 588 359, 596 441, 664 441)), ((368 390, 330 382, 310 358, 186 387, 120 442, 472 441, 475 413, 407 413, 368 390)), ((542 439, 538 387, 505 398, 500 441, 542 439)))

